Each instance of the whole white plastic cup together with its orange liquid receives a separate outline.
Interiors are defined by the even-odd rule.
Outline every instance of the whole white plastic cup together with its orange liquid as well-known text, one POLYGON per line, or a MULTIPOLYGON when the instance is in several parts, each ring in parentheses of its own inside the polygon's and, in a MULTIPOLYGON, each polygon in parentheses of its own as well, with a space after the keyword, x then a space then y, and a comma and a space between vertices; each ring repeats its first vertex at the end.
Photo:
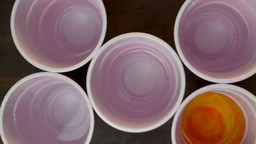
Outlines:
POLYGON ((256 143, 256 97, 233 85, 217 84, 190 94, 172 124, 173 144, 256 143))

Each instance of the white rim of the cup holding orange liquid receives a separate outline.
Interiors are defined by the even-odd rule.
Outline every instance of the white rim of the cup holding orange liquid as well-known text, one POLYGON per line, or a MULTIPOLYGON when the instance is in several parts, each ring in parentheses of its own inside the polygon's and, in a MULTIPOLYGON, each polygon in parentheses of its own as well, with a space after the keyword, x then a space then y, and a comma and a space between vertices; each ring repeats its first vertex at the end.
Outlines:
POLYGON ((173 122, 172 122, 172 143, 176 144, 176 127, 177 127, 177 123, 178 123, 178 118, 179 116, 181 116, 181 113, 183 111, 183 109, 185 108, 185 106, 191 101, 193 100, 195 97, 197 97, 198 95, 200 95, 202 92, 208 91, 210 89, 216 89, 216 88, 227 88, 227 89, 232 89, 234 91, 240 92, 242 94, 245 94, 246 97, 250 98, 252 101, 254 101, 254 103, 256 104, 256 97, 249 91, 247 91, 246 89, 242 88, 242 87, 238 87, 235 85, 230 85, 230 84, 213 84, 213 85, 209 85, 209 86, 205 86, 202 87, 200 89, 197 89, 195 92, 191 93, 183 102, 182 104, 179 106, 174 118, 173 118, 173 122))

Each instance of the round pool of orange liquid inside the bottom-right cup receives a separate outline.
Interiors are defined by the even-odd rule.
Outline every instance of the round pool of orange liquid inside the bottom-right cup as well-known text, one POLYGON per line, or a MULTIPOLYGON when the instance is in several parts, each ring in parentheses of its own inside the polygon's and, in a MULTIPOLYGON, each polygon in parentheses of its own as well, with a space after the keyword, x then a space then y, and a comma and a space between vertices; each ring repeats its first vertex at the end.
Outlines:
POLYGON ((238 144, 245 129, 245 116, 240 106, 220 93, 198 95, 185 107, 182 115, 182 130, 187 143, 238 144))

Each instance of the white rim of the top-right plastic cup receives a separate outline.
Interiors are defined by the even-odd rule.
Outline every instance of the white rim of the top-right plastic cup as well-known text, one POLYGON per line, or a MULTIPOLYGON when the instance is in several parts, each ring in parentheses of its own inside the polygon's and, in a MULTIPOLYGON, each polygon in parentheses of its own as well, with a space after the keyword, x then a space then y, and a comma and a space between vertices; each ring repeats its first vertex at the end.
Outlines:
POLYGON ((178 15, 176 17, 176 21, 174 24, 174 43, 176 45, 176 50, 178 52, 179 57, 182 59, 182 62, 185 64, 185 66, 192 71, 195 75, 201 77, 204 80, 210 81, 210 82, 215 82, 215 83, 235 83, 238 81, 242 81, 247 79, 248 77, 253 76, 256 74, 256 67, 250 71, 247 71, 245 74, 242 74, 237 77, 232 77, 229 79, 222 79, 222 78, 217 78, 213 76, 209 76, 206 74, 203 74, 201 71, 197 70, 196 68, 193 67, 193 65, 188 61, 188 59, 184 56, 182 49, 181 49, 181 44, 179 43, 179 24, 181 22, 182 16, 184 14, 184 11, 187 9, 188 5, 193 2, 193 0, 186 0, 184 4, 182 5, 181 9, 178 12, 178 15))

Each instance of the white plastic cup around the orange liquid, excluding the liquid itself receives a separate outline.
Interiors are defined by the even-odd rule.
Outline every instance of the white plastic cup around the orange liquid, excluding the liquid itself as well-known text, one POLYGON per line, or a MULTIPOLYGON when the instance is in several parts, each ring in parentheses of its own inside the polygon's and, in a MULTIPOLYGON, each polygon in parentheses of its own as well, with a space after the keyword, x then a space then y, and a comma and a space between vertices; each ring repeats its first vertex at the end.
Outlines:
POLYGON ((243 89, 241 87, 237 87, 234 85, 226 85, 226 84, 216 84, 210 85, 203 88, 198 89, 194 93, 190 94, 187 99, 183 101, 181 106, 179 107, 176 115, 174 116, 172 123, 172 143, 176 144, 186 144, 181 128, 181 117, 185 107, 189 104, 191 100, 193 100, 197 95, 200 95, 205 92, 218 92, 224 95, 227 95, 240 106, 245 115, 246 119, 246 131, 242 140, 242 144, 245 143, 255 143, 256 142, 256 97, 243 89))

